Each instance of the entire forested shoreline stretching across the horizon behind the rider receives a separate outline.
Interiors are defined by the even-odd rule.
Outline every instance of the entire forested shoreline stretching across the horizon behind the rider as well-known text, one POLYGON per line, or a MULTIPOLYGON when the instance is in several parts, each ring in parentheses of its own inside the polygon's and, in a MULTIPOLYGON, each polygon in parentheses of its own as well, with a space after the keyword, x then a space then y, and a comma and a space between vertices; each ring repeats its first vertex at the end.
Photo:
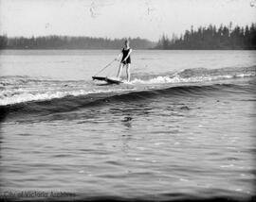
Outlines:
MULTIPOLYGON (((119 49, 125 39, 41 36, 11 37, 0 36, 0 49, 119 49)), ((160 50, 256 50, 256 25, 235 26, 232 24, 200 26, 196 30, 186 30, 170 40, 163 34, 158 42, 141 38, 129 38, 134 49, 160 50)))

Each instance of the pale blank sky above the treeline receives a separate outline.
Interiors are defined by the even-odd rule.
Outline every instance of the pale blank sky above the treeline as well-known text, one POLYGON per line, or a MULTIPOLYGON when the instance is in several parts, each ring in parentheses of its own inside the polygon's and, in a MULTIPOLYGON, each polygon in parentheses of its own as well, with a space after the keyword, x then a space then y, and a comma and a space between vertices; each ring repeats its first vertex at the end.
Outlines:
POLYGON ((256 0, 0 0, 0 34, 140 37, 202 25, 250 25, 256 0))

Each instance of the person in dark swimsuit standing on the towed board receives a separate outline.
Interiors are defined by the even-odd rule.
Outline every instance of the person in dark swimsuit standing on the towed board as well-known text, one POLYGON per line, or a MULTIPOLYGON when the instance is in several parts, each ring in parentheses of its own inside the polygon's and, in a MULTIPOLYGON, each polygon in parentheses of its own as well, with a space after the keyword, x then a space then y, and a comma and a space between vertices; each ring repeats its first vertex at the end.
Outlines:
POLYGON ((120 64, 119 64, 118 78, 120 78, 122 67, 124 65, 126 65, 126 75, 127 75, 128 82, 130 82, 130 78, 131 78, 131 73, 130 73, 131 53, 132 53, 132 48, 130 48, 130 46, 129 46, 129 41, 125 40, 124 47, 122 48, 121 53, 119 54, 119 56, 116 60, 119 60, 119 57, 122 54, 122 58, 121 58, 120 64))

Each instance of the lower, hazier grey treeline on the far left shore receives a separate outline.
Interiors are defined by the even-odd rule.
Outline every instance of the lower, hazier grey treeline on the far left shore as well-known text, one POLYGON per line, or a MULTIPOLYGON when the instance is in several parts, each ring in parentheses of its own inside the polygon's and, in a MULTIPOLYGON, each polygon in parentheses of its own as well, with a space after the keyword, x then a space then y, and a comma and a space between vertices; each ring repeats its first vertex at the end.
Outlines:
MULTIPOLYGON (((0 49, 119 49, 125 39, 107 39, 92 37, 46 36, 31 38, 8 38, 0 36, 0 49)), ((136 49, 149 49, 155 42, 145 39, 131 39, 130 43, 136 49)))

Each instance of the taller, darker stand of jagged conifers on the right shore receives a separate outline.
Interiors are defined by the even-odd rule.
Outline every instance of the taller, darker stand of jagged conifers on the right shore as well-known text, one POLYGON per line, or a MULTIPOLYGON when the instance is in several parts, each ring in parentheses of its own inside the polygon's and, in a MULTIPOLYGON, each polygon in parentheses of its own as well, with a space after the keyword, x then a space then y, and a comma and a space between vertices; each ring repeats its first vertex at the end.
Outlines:
POLYGON ((157 42, 155 49, 256 49, 256 25, 250 27, 209 25, 197 30, 186 30, 179 38, 173 34, 171 40, 166 35, 157 42))

